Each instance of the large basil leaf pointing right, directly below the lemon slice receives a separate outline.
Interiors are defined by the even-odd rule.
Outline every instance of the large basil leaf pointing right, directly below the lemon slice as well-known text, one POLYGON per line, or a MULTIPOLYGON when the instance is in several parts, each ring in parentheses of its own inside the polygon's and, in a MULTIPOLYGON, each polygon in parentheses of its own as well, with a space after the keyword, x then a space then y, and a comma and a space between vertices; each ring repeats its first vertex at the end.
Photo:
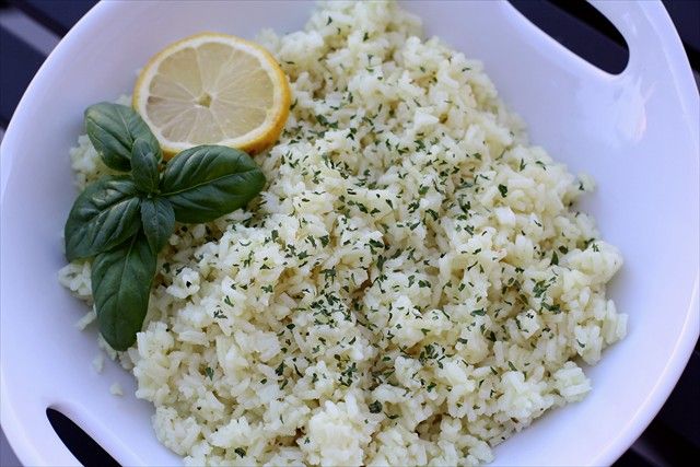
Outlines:
POLYGON ((161 194, 179 222, 210 222, 250 201, 265 175, 243 151, 198 145, 173 157, 163 172, 161 194))

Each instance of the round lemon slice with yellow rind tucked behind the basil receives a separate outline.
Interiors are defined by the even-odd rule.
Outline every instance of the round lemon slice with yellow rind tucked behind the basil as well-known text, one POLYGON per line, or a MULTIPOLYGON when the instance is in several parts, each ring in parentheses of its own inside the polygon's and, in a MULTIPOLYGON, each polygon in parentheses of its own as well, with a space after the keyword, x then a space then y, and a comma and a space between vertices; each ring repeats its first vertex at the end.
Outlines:
POLYGON ((199 144, 262 151, 277 141, 289 104, 287 77, 266 49, 214 33, 161 50, 133 90, 133 108, 166 159, 199 144))

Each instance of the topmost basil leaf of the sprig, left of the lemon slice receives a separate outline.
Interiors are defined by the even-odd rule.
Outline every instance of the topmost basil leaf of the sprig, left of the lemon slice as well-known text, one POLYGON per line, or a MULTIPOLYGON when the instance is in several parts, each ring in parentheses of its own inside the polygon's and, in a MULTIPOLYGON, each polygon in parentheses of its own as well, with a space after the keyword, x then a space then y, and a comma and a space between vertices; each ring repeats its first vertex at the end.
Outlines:
MULTIPOLYGON (((131 107, 101 102, 85 109, 85 130, 108 167, 129 172, 131 147, 143 138, 160 156, 161 147, 145 121, 131 107)), ((159 157, 160 159, 160 157, 159 157)))

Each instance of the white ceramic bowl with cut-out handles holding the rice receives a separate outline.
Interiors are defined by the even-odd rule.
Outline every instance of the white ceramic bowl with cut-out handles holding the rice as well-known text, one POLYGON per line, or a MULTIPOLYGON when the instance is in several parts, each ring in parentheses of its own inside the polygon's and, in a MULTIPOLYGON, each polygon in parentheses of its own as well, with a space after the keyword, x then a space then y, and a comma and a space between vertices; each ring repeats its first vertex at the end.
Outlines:
MULTIPOLYGON (((409 2, 429 34, 486 62, 505 102, 572 171, 598 182, 584 209, 618 245, 610 289, 629 336, 586 370, 592 394, 548 413, 497 450, 495 464, 611 464, 643 431, 678 380, 698 337, 698 92, 658 2, 599 2, 630 48, 605 73, 501 2, 409 2)), ((71 465, 47 418, 54 407, 125 465, 173 465, 150 425, 151 406, 117 365, 91 370, 84 305, 56 280, 61 231, 75 197, 68 149, 83 109, 129 93, 135 70, 165 44, 202 30, 254 37, 303 26, 310 4, 102 2, 46 60, 2 142, 2 428, 26 465, 71 465), (113 382, 125 397, 109 394, 113 382)))

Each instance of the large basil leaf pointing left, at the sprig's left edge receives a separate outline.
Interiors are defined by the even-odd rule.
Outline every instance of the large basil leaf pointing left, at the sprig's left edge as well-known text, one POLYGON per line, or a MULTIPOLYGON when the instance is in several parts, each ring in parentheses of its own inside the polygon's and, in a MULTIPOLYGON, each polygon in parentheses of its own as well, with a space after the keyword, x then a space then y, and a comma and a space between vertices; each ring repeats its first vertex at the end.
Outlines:
POLYGON ((86 258, 117 246, 139 230, 138 191, 126 176, 104 177, 80 194, 66 221, 66 257, 86 258))

